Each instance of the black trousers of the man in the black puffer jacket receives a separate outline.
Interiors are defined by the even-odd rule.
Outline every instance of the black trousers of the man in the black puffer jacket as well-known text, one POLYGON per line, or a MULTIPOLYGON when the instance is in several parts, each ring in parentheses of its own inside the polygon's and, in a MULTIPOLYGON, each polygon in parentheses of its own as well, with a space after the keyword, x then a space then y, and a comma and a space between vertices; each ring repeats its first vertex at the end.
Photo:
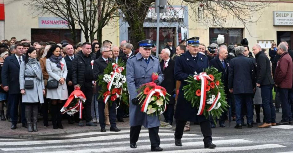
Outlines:
POLYGON ((91 115, 91 106, 92 106, 92 98, 93 98, 93 83, 85 82, 85 84, 80 88, 80 90, 85 94, 85 121, 89 122, 92 120, 91 115))

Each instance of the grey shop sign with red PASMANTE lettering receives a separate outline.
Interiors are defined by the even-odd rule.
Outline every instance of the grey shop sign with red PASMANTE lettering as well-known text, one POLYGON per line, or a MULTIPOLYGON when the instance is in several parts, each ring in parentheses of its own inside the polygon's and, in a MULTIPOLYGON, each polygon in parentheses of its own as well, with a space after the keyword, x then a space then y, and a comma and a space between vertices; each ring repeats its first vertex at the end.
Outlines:
POLYGON ((68 28, 68 22, 55 17, 39 17, 39 28, 68 28))

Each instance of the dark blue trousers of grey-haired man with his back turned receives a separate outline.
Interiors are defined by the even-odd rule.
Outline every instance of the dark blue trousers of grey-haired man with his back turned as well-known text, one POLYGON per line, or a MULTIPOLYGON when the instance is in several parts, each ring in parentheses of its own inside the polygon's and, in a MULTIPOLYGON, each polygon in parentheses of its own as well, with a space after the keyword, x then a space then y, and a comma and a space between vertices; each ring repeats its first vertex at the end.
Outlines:
POLYGON ((251 93, 240 93, 234 94, 235 98, 235 110, 236 110, 236 123, 241 124, 241 106, 246 104, 247 108, 247 123, 252 124, 253 118, 253 107, 252 107, 252 94, 251 93))

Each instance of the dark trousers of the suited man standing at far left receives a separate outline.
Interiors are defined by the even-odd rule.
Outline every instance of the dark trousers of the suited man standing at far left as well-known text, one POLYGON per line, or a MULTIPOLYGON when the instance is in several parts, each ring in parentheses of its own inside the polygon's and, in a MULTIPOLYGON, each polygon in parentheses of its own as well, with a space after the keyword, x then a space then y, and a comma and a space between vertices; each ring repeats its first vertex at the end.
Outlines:
POLYGON ((10 102, 10 118, 12 120, 12 124, 17 124, 17 118, 18 118, 18 105, 20 103, 21 107, 21 122, 25 124, 26 118, 25 118, 25 105, 22 102, 22 95, 19 94, 8 94, 8 101, 10 102))

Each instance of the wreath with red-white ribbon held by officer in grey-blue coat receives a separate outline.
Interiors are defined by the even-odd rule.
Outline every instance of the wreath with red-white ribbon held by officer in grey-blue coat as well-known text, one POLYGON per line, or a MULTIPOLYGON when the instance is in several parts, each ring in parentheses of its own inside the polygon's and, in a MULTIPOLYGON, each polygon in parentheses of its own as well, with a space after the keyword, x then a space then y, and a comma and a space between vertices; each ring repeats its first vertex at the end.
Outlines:
POLYGON ((158 79, 158 74, 152 74, 152 82, 141 85, 137 91, 139 92, 137 97, 139 105, 141 105, 141 111, 148 115, 156 116, 161 115, 167 109, 167 104, 170 95, 166 89, 156 85, 154 82, 158 79))

